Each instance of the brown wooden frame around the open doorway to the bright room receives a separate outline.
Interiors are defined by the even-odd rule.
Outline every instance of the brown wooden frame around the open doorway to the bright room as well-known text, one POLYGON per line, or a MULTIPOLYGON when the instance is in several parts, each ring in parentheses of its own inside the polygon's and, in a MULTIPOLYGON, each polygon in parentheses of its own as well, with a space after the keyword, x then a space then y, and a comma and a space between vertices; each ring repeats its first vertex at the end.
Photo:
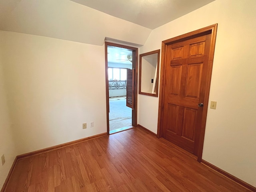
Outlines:
POLYGON ((107 133, 109 135, 109 89, 108 89, 108 46, 132 50, 132 68, 134 68, 134 109, 132 110, 132 126, 137 126, 137 92, 138 92, 138 48, 105 42, 105 76, 106 76, 106 115, 107 133))

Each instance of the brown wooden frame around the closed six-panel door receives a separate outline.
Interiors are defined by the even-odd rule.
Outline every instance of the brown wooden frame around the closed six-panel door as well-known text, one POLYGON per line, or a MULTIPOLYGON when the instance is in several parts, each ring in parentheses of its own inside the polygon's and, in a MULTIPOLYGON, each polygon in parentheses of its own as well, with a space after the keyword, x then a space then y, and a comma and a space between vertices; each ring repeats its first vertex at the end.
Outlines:
POLYGON ((212 34, 211 41, 210 41, 210 52, 209 52, 209 70, 208 70, 208 79, 206 79, 206 89, 205 89, 205 96, 204 96, 204 108, 202 113, 202 126, 200 128, 200 137, 199 137, 199 147, 198 147, 198 162, 202 160, 202 152, 203 152, 203 145, 204 145, 204 134, 205 134, 205 126, 206 126, 206 116, 208 110, 208 100, 210 94, 210 83, 212 77, 212 65, 213 65, 213 57, 214 57, 214 49, 215 49, 215 42, 216 42, 216 34, 217 34, 217 25, 214 24, 202 29, 198 29, 174 38, 170 38, 168 40, 162 41, 162 59, 161 59, 161 74, 160 74, 160 94, 159 94, 159 106, 158 106, 158 126, 157 126, 157 137, 162 137, 162 122, 163 122, 163 108, 164 108, 164 84, 166 81, 165 72, 166 72, 166 49, 167 46, 170 44, 174 44, 180 41, 192 39, 198 36, 202 36, 204 34, 212 34))

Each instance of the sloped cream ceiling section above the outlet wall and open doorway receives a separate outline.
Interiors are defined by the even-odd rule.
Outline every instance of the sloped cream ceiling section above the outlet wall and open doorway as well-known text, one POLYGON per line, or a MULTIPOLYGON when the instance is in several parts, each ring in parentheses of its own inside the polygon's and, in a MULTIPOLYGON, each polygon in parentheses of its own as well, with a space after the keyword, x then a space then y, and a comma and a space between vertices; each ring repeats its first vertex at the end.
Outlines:
POLYGON ((151 30, 70 0, 0 0, 0 30, 102 46, 143 45, 151 30), (9 2, 10 1, 10 2, 9 2))

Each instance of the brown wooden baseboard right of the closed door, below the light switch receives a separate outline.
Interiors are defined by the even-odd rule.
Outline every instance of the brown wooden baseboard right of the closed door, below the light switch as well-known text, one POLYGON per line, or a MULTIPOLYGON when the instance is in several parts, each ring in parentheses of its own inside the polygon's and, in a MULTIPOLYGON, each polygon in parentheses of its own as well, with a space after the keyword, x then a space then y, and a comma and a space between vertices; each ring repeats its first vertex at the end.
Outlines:
POLYGON ((244 187, 246 187, 246 188, 248 188, 248 189, 250 189, 250 190, 252 190, 252 191, 256 191, 256 187, 254 187, 254 186, 252 186, 252 185, 250 185, 250 184, 248 184, 248 183, 246 183, 246 182, 244 182, 244 181, 238 179, 237 177, 235 177, 235 176, 229 174, 228 172, 226 172, 226 171, 224 171, 224 170, 222 170, 222 169, 220 169, 220 168, 214 166, 213 164, 210 164, 209 162, 207 162, 207 161, 205 161, 205 160, 202 160, 201 163, 204 164, 204 165, 206 165, 206 166, 208 166, 208 167, 210 167, 210 168, 212 168, 213 170, 216 170, 216 171, 219 172, 220 174, 222 174, 222 175, 224 175, 224 176, 230 178, 230 179, 233 180, 234 182, 237 182, 238 184, 240 184, 240 185, 242 185, 242 186, 244 186, 244 187))

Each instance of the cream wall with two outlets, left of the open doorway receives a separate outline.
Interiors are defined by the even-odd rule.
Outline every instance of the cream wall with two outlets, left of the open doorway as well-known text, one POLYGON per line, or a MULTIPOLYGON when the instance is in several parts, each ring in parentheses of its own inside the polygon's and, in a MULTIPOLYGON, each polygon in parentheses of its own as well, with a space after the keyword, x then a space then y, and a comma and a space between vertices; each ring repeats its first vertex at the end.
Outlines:
POLYGON ((18 154, 106 128, 104 46, 0 31, 18 154), (93 121, 94 127, 82 129, 93 121))

